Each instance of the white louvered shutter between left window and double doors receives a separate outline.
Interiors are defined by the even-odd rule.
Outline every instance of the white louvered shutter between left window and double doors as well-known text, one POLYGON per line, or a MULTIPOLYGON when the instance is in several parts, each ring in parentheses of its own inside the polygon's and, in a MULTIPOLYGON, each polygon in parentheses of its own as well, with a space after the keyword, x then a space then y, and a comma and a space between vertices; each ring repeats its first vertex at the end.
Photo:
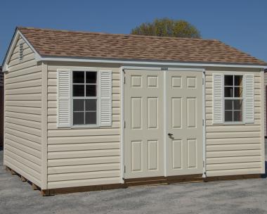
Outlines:
POLYGON ((100 70, 100 126, 112 125, 112 71, 100 70))

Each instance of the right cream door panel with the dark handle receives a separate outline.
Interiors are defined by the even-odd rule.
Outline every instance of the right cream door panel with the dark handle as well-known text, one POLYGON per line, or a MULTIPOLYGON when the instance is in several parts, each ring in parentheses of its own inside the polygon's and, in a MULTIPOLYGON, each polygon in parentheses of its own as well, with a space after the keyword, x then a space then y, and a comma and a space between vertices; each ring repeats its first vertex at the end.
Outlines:
POLYGON ((168 71, 167 176, 202 173, 202 73, 168 71))

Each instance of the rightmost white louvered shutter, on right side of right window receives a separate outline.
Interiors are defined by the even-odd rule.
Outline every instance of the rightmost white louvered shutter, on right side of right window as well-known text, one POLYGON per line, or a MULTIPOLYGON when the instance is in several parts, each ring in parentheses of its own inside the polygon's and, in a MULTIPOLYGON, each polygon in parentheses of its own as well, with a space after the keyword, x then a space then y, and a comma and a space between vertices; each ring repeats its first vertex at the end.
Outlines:
POLYGON ((254 75, 244 75, 245 123, 254 123, 254 75))

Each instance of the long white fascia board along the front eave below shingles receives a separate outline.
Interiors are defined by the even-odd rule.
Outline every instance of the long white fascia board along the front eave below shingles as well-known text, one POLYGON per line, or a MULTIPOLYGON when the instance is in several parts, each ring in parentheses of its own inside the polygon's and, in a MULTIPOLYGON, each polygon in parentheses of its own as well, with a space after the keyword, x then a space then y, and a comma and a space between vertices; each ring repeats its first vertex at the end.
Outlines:
POLYGON ((178 63, 178 62, 158 62, 158 61, 130 61, 124 59, 103 59, 103 58, 65 58, 65 57, 41 57, 39 61, 64 61, 80 63, 117 63, 122 65, 156 65, 156 66, 193 66, 193 67, 228 67, 228 68, 266 68, 263 65, 243 65, 225 63, 178 63))

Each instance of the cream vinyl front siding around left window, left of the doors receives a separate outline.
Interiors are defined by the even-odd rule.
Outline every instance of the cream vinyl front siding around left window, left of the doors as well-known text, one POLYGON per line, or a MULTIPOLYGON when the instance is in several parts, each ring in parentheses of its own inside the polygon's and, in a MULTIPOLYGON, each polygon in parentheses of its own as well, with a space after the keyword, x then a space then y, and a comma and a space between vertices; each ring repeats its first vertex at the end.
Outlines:
POLYGON ((120 73, 105 66, 48 64, 48 189, 120 182, 120 73), (82 67, 112 70, 112 127, 57 127, 57 70, 82 67))

